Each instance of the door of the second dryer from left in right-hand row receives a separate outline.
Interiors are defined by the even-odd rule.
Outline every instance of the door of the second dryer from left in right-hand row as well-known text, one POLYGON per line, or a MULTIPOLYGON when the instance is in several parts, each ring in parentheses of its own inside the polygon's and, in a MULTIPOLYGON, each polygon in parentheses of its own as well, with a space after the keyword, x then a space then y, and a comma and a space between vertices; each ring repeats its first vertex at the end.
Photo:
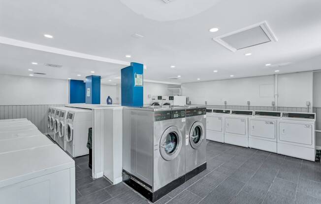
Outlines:
POLYGON ((225 132, 239 135, 246 134, 246 123, 244 118, 225 118, 225 132))

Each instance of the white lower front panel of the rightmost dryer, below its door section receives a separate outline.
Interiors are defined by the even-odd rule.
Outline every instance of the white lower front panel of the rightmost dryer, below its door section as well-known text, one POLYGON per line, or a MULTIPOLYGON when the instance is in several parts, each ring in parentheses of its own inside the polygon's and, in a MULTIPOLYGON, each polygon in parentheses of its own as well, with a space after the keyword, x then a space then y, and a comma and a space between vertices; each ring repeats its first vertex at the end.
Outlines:
POLYGON ((316 150, 312 148, 278 143, 279 154, 315 161, 316 150))

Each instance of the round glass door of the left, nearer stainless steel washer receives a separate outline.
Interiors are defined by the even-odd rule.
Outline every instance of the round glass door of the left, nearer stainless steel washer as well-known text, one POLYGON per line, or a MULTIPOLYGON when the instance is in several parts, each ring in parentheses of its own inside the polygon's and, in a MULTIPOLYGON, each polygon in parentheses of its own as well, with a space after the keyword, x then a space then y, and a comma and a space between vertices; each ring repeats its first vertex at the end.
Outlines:
POLYGON ((183 136, 176 126, 167 128, 160 137, 160 155, 170 161, 177 157, 182 149, 183 136))

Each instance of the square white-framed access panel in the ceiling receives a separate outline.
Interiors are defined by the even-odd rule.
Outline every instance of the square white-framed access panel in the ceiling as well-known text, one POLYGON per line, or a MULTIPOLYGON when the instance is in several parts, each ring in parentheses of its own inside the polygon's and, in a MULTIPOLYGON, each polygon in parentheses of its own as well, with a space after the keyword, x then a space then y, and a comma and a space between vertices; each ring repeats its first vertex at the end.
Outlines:
POLYGON ((260 44, 278 41, 266 22, 227 33, 213 38, 213 40, 234 52, 260 44))

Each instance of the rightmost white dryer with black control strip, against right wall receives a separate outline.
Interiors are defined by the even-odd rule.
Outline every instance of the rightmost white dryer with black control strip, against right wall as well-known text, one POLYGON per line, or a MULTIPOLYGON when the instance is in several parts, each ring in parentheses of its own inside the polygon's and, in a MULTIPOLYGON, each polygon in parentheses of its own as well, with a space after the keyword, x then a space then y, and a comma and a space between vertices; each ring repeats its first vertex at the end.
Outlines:
POLYGON ((277 152, 315 161, 315 113, 282 112, 278 122, 277 152))

